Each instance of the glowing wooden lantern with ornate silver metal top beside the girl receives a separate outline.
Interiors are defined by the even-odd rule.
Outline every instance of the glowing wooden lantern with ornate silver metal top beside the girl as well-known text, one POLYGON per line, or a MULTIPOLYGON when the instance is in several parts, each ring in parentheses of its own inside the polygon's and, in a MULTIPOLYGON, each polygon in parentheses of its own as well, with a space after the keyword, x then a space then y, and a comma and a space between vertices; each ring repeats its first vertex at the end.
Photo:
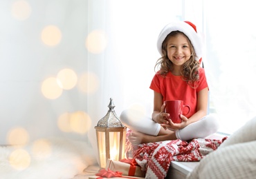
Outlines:
POLYGON ((98 121, 96 136, 98 142, 98 154, 100 158, 100 168, 106 167, 107 159, 121 160, 125 158, 125 140, 127 127, 122 125, 116 112, 113 109, 113 99, 110 98, 109 111, 106 116, 98 121))

